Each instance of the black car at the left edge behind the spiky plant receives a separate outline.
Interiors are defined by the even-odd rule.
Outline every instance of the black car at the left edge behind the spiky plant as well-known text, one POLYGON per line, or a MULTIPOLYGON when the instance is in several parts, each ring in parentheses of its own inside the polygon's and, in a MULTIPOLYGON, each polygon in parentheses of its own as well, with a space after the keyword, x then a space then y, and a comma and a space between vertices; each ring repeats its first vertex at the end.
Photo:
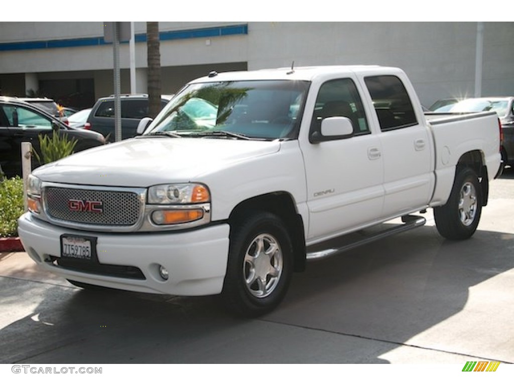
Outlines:
MULTIPOLYGON (((57 117, 18 98, 0 97, 0 166, 7 177, 21 175, 22 142, 30 142, 40 153, 39 134, 77 139, 75 152, 105 144, 105 138, 98 132, 72 128, 57 117)), ((32 157, 32 168, 40 164, 32 157)))

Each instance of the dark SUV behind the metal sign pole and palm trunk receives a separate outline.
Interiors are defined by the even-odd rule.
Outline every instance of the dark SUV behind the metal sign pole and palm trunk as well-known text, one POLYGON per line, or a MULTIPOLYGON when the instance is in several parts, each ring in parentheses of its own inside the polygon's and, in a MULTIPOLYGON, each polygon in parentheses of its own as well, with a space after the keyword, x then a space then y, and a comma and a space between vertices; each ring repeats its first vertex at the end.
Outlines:
MULTIPOLYGON (((162 95, 161 109, 166 106, 172 95, 162 95)), ((121 138, 136 136, 139 121, 148 117, 147 94, 123 94, 121 99, 121 138)), ((114 133, 114 95, 100 98, 91 109, 85 128, 100 132, 109 142, 115 141, 114 133)))

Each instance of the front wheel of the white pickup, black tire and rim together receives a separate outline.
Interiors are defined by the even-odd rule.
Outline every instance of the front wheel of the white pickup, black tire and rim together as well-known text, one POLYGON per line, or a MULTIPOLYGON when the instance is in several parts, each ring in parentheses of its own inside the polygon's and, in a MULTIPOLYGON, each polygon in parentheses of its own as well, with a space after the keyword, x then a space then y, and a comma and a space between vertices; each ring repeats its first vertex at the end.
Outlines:
POLYGON ((222 298, 235 315, 257 317, 284 299, 293 271, 290 236, 279 217, 254 213, 231 224, 222 298))

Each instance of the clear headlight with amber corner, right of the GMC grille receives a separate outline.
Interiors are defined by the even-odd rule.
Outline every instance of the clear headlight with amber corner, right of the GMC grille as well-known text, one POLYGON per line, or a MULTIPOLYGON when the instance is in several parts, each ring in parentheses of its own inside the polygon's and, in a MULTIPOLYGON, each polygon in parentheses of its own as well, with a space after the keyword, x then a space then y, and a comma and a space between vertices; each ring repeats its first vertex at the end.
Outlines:
POLYGON ((206 203, 211 199, 209 189, 203 184, 159 184, 148 189, 150 204, 206 203))

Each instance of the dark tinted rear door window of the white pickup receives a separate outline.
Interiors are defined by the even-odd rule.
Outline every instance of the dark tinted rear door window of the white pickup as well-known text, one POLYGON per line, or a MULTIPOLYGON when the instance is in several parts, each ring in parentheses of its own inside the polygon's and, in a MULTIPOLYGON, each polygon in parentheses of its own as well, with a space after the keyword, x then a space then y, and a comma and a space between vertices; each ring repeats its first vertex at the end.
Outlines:
POLYGON ((364 82, 370 91, 382 131, 417 124, 409 94, 399 78, 393 75, 370 76, 364 82))

